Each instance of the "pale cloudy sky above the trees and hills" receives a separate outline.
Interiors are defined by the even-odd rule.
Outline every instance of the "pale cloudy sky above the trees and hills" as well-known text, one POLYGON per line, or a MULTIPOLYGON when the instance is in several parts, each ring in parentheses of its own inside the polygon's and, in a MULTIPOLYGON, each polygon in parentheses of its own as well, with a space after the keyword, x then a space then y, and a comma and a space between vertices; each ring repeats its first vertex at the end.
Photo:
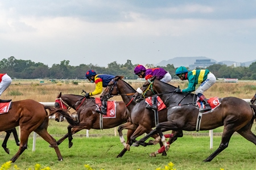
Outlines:
POLYGON ((256 58, 256 0, 3 0, 0 60, 49 67, 256 58))

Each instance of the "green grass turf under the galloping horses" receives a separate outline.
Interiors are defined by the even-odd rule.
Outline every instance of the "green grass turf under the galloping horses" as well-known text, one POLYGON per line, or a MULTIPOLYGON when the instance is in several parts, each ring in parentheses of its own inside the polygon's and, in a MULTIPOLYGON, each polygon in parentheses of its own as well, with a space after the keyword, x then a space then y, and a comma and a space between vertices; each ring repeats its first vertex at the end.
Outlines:
MULTIPOLYGON (((59 139, 60 137, 55 137, 59 139)), ((64 161, 57 161, 53 148, 42 138, 36 139, 36 151, 32 152, 32 138, 28 141, 28 149, 16 160, 14 164, 20 169, 33 168, 35 164, 51 169, 85 169, 84 164, 89 164, 93 169, 156 169, 164 167, 169 162, 175 164, 176 169, 255 169, 256 148, 255 145, 240 135, 233 135, 229 147, 212 160, 204 163, 206 159, 220 144, 221 137, 214 137, 213 150, 209 149, 209 137, 192 137, 185 135, 174 142, 167 156, 157 155, 150 158, 148 154, 158 150, 159 146, 131 147, 130 152, 122 158, 115 158, 123 146, 119 137, 74 137, 73 146, 68 148, 68 141, 61 143, 60 151, 64 161)), ((0 152, 0 163, 9 161, 18 147, 14 139, 7 143, 11 154, 0 152)))

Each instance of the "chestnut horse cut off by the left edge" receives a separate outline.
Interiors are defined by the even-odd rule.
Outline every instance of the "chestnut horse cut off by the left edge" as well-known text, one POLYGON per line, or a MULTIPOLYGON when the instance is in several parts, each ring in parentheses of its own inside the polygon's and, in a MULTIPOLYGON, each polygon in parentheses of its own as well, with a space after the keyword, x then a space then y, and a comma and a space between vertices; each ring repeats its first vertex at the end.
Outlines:
POLYGON ((14 101, 8 113, 0 114, 0 131, 20 126, 19 150, 11 158, 12 162, 15 162, 26 150, 28 137, 32 131, 39 134, 55 149, 58 160, 63 160, 56 140, 47 132, 49 117, 46 109, 50 111, 50 115, 57 112, 57 109, 53 107, 47 107, 37 101, 27 99, 14 101))

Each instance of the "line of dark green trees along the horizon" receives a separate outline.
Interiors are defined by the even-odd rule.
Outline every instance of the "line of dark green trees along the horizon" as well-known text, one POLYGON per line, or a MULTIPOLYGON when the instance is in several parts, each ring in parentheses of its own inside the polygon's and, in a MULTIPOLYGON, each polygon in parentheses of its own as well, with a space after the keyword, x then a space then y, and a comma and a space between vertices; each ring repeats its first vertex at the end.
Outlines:
MULTIPOLYGON (((138 63, 131 63, 127 59, 125 64, 119 64, 116 61, 108 64, 108 67, 100 67, 98 65, 80 64, 79 66, 69 65, 69 60, 63 60, 59 64, 53 64, 48 67, 42 62, 33 62, 31 60, 16 59, 14 56, 3 58, 0 61, 0 73, 7 73, 11 78, 16 79, 84 79, 85 71, 93 69, 97 74, 122 75, 125 79, 137 79, 134 74, 134 67, 138 63)), ((155 67, 147 64, 146 67, 155 67)), ((174 65, 156 66, 167 70, 174 79, 178 79, 175 75, 177 69, 174 65)), ((200 69, 200 68, 197 68, 200 69)), ((233 67, 227 65, 214 64, 206 69, 210 70, 216 78, 237 78, 240 80, 256 80, 256 62, 251 63, 249 67, 233 67)))

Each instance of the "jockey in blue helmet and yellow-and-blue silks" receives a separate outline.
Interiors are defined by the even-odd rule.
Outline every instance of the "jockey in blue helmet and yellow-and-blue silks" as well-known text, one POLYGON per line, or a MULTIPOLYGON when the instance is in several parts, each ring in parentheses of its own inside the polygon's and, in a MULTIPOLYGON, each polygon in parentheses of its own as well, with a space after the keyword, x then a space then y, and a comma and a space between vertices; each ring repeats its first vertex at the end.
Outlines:
MULTIPOLYGON (((114 75, 108 74, 97 74, 94 70, 88 70, 85 73, 85 78, 87 78, 91 83, 95 83, 96 87, 93 92, 86 93, 86 98, 94 95, 101 94, 103 87, 107 87, 109 82, 114 78, 114 75)), ((96 112, 106 115, 107 101, 102 101, 101 109, 96 109, 96 112)))

